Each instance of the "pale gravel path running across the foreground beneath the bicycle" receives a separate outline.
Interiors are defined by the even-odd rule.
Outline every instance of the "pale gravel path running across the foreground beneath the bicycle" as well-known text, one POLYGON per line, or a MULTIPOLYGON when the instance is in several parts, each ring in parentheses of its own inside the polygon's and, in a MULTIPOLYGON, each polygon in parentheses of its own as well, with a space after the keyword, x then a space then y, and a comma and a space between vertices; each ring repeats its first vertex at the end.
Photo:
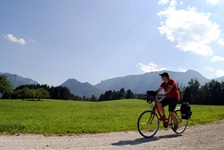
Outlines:
POLYGON ((222 150, 224 120, 189 127, 182 135, 160 129, 145 139, 138 132, 84 134, 73 136, 2 135, 0 150, 222 150))

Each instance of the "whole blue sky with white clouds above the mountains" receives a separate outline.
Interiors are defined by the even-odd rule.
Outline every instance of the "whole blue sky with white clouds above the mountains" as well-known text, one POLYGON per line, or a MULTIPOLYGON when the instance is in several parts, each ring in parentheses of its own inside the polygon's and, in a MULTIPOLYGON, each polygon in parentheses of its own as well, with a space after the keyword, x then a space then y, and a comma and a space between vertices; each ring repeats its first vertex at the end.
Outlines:
POLYGON ((145 72, 224 76, 224 0, 1 0, 0 72, 97 84, 145 72))

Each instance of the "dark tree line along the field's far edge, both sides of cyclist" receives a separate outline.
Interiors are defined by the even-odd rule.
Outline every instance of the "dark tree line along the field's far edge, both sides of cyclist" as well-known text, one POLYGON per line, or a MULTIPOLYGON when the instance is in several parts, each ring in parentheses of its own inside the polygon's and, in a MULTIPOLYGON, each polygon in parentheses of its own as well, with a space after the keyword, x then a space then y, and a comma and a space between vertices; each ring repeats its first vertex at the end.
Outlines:
MULTIPOLYGON (((181 100, 191 104, 223 105, 224 104, 224 82, 211 80, 201 86, 197 79, 191 79, 188 86, 179 87, 181 100)), ((145 99, 145 94, 133 93, 130 89, 125 91, 124 88, 115 91, 108 90, 101 94, 99 98, 80 97, 70 93, 67 87, 48 86, 46 84, 21 85, 14 90, 7 81, 6 76, 0 75, 0 94, 4 99, 62 99, 62 100, 82 100, 82 101, 107 101, 118 99, 145 99)))

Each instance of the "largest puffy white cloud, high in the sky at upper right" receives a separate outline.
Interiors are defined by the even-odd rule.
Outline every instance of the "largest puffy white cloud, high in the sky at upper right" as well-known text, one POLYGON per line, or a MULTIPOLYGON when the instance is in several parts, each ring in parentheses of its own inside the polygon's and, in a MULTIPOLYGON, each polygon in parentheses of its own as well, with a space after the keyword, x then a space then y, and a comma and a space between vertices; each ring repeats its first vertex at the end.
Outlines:
POLYGON ((171 0, 169 7, 158 13, 159 17, 165 17, 158 28, 160 34, 175 42, 181 51, 212 55, 209 44, 220 38, 219 25, 209 20, 210 13, 198 12, 195 7, 178 10, 176 5, 171 0))

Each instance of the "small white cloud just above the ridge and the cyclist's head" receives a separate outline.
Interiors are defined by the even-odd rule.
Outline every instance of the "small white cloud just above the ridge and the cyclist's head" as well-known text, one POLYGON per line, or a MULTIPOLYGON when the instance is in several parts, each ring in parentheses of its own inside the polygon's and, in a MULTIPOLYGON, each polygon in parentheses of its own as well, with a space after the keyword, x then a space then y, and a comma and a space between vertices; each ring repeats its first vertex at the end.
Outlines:
POLYGON ((154 63, 149 63, 148 65, 144 65, 142 63, 138 64, 141 68, 141 70, 146 73, 146 72, 153 72, 153 71, 162 71, 162 70, 167 70, 167 68, 164 67, 159 67, 158 65, 154 63))

